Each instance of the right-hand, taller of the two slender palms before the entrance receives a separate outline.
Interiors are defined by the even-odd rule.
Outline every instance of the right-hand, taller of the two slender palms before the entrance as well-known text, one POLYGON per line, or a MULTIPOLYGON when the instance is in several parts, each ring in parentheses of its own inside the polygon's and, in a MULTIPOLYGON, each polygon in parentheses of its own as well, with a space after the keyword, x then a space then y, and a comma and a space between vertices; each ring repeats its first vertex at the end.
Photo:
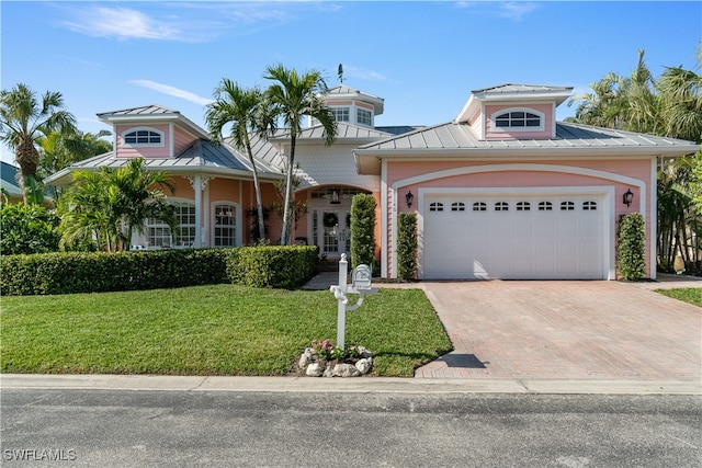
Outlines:
POLYGON ((285 205, 283 208, 283 230, 281 244, 290 243, 293 207, 293 172, 295 169, 295 144, 303 130, 303 117, 312 116, 324 128, 325 142, 331 145, 337 135, 337 123, 327 107, 322 94, 327 92, 327 83, 318 70, 298 73, 295 69, 279 64, 269 66, 263 75, 273 84, 267 90, 268 109, 270 111, 269 128, 275 129, 275 121, 282 119, 286 132, 290 132, 290 152, 286 160, 285 205))

